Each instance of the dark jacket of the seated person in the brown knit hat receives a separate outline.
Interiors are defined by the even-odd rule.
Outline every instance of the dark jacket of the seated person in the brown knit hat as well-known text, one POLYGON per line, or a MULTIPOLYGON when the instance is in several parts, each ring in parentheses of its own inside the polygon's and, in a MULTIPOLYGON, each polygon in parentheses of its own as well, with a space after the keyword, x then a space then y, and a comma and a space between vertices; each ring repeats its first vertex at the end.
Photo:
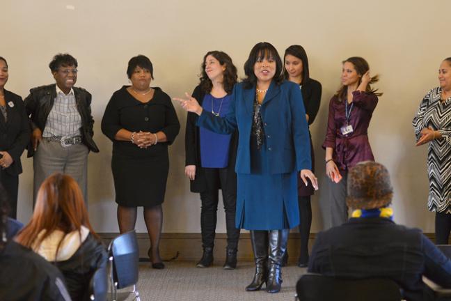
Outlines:
POLYGON ((451 261, 431 240, 420 229, 382 217, 351 218, 318 233, 308 272, 352 279, 390 278, 404 290, 406 300, 423 300, 422 275, 451 288, 451 261))

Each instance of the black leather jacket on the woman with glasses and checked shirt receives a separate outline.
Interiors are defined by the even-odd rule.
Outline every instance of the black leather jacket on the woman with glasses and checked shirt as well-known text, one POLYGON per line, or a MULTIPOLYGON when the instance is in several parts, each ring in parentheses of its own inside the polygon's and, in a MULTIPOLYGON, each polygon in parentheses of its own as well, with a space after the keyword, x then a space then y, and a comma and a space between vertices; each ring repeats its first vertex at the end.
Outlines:
MULTIPOLYGON (((93 140, 93 125, 94 118, 91 115, 90 102, 91 95, 84 88, 73 87, 75 101, 77 102, 77 109, 81 116, 81 136, 83 137, 83 143, 88 146, 90 151, 94 153, 99 152, 99 148, 95 145, 93 140)), ((56 98, 56 84, 48 86, 39 86, 30 90, 24 102, 26 107, 26 114, 29 115, 31 120, 31 128, 39 128, 41 132, 44 132, 45 123, 47 122, 47 116, 54 105, 56 98)), ((28 146, 28 157, 33 156, 33 146, 28 146)))

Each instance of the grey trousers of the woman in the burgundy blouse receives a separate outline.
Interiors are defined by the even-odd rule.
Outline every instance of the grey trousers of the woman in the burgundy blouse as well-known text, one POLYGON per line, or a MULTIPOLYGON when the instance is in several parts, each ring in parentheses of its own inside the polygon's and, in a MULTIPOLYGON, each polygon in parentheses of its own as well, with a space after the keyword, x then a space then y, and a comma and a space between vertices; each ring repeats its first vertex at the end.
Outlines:
POLYGON ((346 206, 347 173, 342 174, 342 176, 342 180, 338 183, 328 178, 331 227, 340 226, 348 220, 348 207, 346 206))

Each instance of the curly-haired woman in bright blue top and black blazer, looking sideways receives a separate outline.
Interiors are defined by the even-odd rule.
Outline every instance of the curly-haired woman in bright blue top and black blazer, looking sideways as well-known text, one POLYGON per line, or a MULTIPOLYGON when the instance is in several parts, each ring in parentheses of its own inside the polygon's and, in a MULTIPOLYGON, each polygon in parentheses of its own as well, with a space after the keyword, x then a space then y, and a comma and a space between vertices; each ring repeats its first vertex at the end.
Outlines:
MULTIPOLYGON (((193 98, 216 116, 225 116, 236 82, 237 68, 230 56, 219 51, 207 52, 202 63, 200 84, 194 89, 193 98)), ((216 211, 221 189, 227 230, 227 250, 223 268, 232 270, 237 265, 239 239, 239 229, 235 228, 237 132, 230 135, 216 134, 198 128, 197 120, 197 114, 188 113, 185 134, 185 174, 191 180, 191 192, 200 193, 202 201, 200 228, 203 256, 197 267, 207 268, 213 263, 216 211)))

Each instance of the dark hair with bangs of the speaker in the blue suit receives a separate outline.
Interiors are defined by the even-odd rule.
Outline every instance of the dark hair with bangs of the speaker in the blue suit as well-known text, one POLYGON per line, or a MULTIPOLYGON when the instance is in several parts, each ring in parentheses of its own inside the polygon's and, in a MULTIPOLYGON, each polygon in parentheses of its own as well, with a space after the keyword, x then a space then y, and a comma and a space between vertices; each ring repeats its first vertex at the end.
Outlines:
POLYGON ((249 53, 249 57, 244 63, 244 74, 246 77, 243 79, 244 88, 252 88, 257 84, 257 77, 254 73, 254 65, 260 59, 274 59, 276 61, 276 74, 273 79, 276 84, 282 84, 284 81, 284 77, 282 74, 282 60, 277 53, 276 48, 267 42, 260 42, 255 44, 251 49, 251 53, 249 53))

